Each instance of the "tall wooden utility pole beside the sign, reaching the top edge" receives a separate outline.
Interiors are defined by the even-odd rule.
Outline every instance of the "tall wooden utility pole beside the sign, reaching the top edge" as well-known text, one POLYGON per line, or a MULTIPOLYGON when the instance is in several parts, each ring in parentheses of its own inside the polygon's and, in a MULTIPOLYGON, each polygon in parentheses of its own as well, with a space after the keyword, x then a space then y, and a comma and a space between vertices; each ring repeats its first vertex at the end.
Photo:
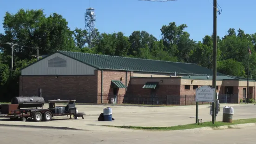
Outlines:
MULTIPOLYGON (((212 77, 212 88, 215 89, 216 94, 216 78, 217 78, 217 0, 213 0, 213 77, 212 77)), ((212 124, 216 121, 216 102, 212 103, 212 124)))

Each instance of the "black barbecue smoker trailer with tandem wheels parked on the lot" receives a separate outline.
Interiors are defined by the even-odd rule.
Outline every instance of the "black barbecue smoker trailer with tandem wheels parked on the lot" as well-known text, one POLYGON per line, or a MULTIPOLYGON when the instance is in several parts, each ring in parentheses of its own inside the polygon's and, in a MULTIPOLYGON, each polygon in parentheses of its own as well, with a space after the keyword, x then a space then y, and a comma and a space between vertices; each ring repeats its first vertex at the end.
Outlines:
POLYGON ((12 104, 0 105, 0 118, 20 118, 26 121, 32 118, 35 122, 50 121, 56 116, 74 116, 75 119, 82 117, 84 112, 77 112, 75 100, 49 100, 49 107, 43 109, 45 100, 43 97, 14 97, 12 104), (56 103, 67 103, 66 106, 55 106, 56 103), (40 109, 38 109, 40 108, 40 109))

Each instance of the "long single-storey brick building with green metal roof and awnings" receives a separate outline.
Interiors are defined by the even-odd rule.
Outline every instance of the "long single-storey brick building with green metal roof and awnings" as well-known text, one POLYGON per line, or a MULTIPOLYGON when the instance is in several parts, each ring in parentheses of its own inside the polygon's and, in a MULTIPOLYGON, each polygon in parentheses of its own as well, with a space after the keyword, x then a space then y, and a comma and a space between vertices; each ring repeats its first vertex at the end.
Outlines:
MULTIPOLYGON (((58 51, 21 70, 20 96, 37 95, 41 88, 46 101, 73 98, 79 103, 109 103, 113 98, 125 103, 136 101, 132 99, 136 96, 182 104, 182 96, 193 96, 197 87, 211 85, 211 75, 212 70, 196 64, 58 51)), ((247 79, 217 75, 220 95, 228 95, 232 103, 245 98, 247 79)), ((255 99, 252 79, 249 98, 255 99)))

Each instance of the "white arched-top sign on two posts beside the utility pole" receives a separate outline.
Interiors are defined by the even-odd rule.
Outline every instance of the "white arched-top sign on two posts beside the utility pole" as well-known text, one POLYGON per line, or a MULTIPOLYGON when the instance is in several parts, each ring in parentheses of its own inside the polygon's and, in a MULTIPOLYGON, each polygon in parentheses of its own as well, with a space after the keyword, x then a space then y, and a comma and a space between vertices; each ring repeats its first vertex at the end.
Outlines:
MULTIPOLYGON (((210 86, 201 86, 196 89, 196 123, 198 121, 198 102, 215 102, 215 88, 210 86)), ((213 105, 214 106, 214 105, 213 105)), ((214 108, 214 107, 213 107, 214 108)), ((215 116, 215 111, 213 109, 213 116, 215 116)), ((213 122, 214 124, 214 122, 213 122)))

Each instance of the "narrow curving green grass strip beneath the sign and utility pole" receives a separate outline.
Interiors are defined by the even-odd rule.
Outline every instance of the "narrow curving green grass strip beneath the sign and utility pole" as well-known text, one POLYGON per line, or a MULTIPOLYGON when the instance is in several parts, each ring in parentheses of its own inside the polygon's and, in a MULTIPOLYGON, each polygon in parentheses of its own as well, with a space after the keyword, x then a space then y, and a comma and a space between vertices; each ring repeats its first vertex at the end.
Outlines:
POLYGON ((201 127, 218 127, 223 125, 232 125, 232 124, 247 124, 247 123, 256 123, 256 118, 250 119, 237 119, 233 120, 232 123, 223 123, 223 122, 204 122, 202 125, 198 124, 186 124, 186 125, 177 125, 171 127, 141 127, 141 126, 109 126, 109 127, 117 127, 117 128, 126 128, 126 129, 134 129, 134 130, 158 130, 158 131, 175 131, 175 130, 186 130, 186 129, 195 129, 201 127))

